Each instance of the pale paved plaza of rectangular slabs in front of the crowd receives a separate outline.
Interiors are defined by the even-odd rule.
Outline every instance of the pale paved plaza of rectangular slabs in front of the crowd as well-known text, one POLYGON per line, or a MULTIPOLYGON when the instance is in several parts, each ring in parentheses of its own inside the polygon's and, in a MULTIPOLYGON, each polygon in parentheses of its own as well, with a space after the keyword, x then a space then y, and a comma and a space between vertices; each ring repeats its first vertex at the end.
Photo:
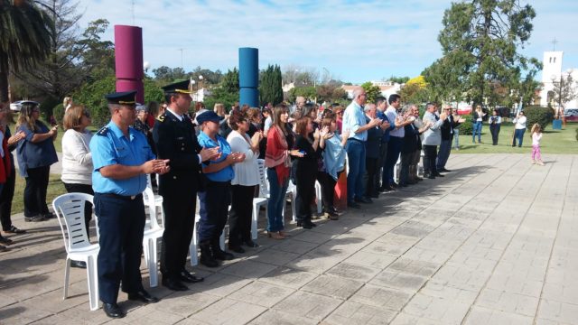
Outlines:
POLYGON ((578 324, 578 155, 453 154, 448 168, 338 221, 288 225, 284 241, 260 233, 237 259, 191 268, 205 282, 188 292, 151 288, 150 305, 121 292, 121 320, 89 311, 85 270, 62 300, 58 222, 18 216, 29 232, 0 253, 0 323, 578 324))

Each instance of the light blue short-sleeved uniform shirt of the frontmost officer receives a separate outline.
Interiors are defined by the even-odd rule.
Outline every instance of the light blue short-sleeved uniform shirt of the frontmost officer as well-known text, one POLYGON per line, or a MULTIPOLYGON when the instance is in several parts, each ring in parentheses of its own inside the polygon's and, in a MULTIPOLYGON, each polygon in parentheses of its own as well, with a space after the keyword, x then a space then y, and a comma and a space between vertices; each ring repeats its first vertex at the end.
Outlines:
POLYGON ((90 140, 92 153, 92 189, 98 193, 112 193, 124 196, 138 195, 146 188, 146 175, 140 174, 126 180, 115 180, 102 176, 102 167, 122 164, 139 166, 154 159, 151 147, 144 135, 134 128, 128 128, 128 139, 120 128, 110 121, 98 130, 90 140))

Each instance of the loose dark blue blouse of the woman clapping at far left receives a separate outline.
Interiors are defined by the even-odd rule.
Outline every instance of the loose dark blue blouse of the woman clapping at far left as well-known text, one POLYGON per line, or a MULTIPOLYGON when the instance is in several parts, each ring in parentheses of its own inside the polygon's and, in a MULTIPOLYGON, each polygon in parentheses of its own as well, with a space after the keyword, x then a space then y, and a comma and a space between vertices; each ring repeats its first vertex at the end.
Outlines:
POLYGON ((26 172, 31 168, 38 168, 44 166, 50 166, 52 163, 58 162, 58 156, 56 155, 56 149, 54 149, 54 144, 52 138, 48 138, 39 143, 33 143, 33 136, 35 134, 46 134, 50 132, 48 126, 44 125, 41 121, 36 121, 37 130, 31 130, 28 125, 19 125, 16 132, 23 131, 25 137, 24 140, 18 142, 16 147, 16 157, 18 158, 18 169, 23 177, 28 177, 26 172))

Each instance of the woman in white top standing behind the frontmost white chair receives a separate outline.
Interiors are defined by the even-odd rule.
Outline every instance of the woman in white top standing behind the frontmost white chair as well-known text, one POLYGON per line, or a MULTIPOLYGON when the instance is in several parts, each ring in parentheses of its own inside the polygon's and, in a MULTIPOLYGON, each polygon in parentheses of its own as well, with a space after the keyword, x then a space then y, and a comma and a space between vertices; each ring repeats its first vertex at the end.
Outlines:
MULTIPOLYGON (((90 125, 89 111, 82 105, 72 105, 64 113, 63 126, 66 132, 62 135, 62 174, 64 188, 69 192, 94 195, 92 190, 92 153, 90 139, 92 133, 87 130, 90 125)), ((86 203, 84 219, 89 230, 92 218, 92 205, 86 203)), ((72 266, 86 267, 83 262, 72 261, 72 266)))

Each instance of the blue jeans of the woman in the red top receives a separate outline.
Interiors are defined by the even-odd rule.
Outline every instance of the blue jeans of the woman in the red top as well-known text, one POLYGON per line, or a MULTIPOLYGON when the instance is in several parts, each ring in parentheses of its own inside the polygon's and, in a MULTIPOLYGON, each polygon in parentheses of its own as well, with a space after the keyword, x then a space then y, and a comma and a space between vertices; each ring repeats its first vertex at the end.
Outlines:
POLYGON ((275 168, 267 168, 267 179, 269 181, 269 200, 267 201, 267 231, 275 232, 283 230, 283 207, 285 204, 285 193, 289 186, 289 179, 283 184, 277 181, 275 168))

